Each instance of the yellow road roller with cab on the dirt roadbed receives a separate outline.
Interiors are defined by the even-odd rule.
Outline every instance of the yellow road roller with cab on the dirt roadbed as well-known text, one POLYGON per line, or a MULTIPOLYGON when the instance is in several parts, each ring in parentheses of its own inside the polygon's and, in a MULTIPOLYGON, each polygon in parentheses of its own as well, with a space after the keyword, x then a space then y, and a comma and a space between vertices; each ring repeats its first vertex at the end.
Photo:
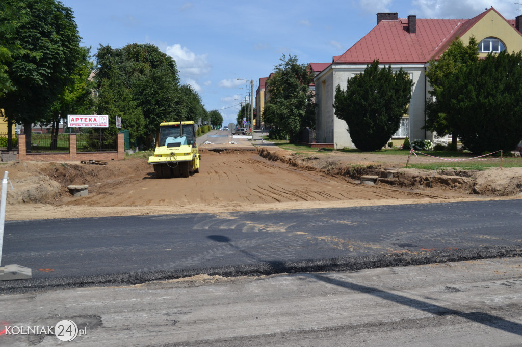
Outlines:
POLYGON ((199 172, 200 159, 193 121, 160 124, 156 150, 149 157, 156 178, 189 177, 191 172, 199 172))

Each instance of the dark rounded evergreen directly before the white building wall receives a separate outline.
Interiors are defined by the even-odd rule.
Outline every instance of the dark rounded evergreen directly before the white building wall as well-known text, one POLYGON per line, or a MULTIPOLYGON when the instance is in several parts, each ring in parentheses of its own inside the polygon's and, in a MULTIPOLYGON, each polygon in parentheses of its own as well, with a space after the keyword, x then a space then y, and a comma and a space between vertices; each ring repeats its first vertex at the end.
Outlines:
POLYGON ((338 85, 335 115, 346 121, 353 144, 361 151, 384 147, 399 130, 400 118, 408 112, 413 82, 400 68, 367 65, 361 75, 348 79, 346 90, 338 85))

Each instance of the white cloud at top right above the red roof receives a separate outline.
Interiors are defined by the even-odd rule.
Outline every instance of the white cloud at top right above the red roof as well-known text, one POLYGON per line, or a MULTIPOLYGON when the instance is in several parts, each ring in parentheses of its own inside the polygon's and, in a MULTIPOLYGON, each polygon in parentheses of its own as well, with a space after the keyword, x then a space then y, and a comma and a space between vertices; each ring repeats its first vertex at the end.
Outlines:
POLYGON ((493 6, 506 19, 517 16, 516 7, 505 0, 413 0, 412 5, 421 18, 469 19, 481 14, 493 6))

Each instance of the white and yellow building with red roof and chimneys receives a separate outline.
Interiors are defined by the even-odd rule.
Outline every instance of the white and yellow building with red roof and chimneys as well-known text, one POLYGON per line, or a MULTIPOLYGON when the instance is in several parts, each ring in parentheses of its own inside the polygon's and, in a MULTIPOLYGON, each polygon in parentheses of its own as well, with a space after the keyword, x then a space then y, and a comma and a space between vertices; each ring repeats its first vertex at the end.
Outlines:
POLYGON ((430 84, 425 71, 430 60, 438 59, 457 37, 468 44, 471 36, 479 42, 480 56, 506 50, 522 50, 520 27, 522 16, 506 20, 493 7, 471 19, 398 18, 397 13, 378 13, 377 25, 361 40, 315 77, 316 131, 324 134, 317 141, 331 143, 335 148, 353 148, 345 121, 335 116, 335 89, 346 88, 349 78, 362 73, 368 64, 378 59, 381 67, 402 68, 409 73, 414 85, 408 114, 401 119, 400 129, 392 137, 395 144, 410 140, 434 140, 435 135, 422 129, 424 108, 430 84))

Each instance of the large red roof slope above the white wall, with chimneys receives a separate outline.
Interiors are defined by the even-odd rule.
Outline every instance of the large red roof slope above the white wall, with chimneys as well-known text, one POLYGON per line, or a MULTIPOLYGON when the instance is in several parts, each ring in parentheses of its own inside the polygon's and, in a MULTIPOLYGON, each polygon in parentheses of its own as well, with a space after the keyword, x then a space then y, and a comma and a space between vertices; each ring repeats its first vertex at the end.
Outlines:
POLYGON ((409 32, 408 19, 382 20, 343 55, 334 57, 334 63, 369 64, 374 59, 384 64, 426 63, 492 10, 498 14, 491 7, 472 19, 417 19, 416 33, 409 32))

